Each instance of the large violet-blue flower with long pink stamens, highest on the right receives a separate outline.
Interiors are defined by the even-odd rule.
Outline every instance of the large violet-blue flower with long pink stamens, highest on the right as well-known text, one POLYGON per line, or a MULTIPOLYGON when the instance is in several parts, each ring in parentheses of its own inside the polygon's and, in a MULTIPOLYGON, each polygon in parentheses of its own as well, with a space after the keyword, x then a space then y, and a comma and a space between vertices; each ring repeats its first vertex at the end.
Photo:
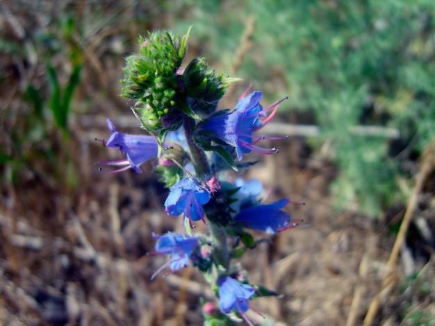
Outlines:
POLYGON ((287 97, 268 108, 263 108, 260 104, 262 97, 263 93, 260 91, 254 91, 248 96, 243 94, 233 112, 215 114, 202 125, 202 130, 212 132, 212 137, 217 137, 232 146, 236 150, 238 160, 242 160, 243 153, 251 151, 262 154, 277 153, 277 148, 262 148, 256 144, 261 139, 282 139, 282 137, 256 136, 252 133, 263 128, 272 119, 279 103, 287 97), (270 110, 272 113, 266 116, 270 110))

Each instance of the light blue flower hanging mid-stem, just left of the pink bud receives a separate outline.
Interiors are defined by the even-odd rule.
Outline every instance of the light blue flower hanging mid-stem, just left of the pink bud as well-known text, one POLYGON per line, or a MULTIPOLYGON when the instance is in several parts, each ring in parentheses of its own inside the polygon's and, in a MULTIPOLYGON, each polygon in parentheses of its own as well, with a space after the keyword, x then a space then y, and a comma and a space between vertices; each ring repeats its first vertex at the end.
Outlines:
POLYGON ((210 196, 210 191, 199 185, 197 181, 190 178, 183 179, 172 187, 167 196, 166 213, 170 216, 183 214, 183 218, 189 218, 190 228, 193 228, 192 221, 202 220, 206 223, 202 205, 208 203, 210 196))

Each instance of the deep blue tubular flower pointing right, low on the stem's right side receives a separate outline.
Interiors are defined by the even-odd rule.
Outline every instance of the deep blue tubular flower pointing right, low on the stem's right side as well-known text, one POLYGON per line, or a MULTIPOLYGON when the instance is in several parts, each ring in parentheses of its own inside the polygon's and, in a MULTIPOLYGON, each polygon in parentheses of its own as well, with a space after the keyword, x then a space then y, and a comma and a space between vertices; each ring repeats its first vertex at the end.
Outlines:
POLYGON ((283 198, 274 203, 240 209, 240 212, 233 218, 233 222, 268 233, 287 230, 292 227, 292 225, 289 225, 290 215, 281 208, 285 207, 289 202, 290 200, 283 198))

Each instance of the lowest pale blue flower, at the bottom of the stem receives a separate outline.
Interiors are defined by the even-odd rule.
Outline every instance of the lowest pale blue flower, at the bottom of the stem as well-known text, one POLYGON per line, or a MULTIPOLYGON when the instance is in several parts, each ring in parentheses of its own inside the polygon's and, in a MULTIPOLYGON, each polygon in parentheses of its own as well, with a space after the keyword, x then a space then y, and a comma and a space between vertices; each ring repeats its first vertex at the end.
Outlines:
POLYGON ((236 310, 249 325, 253 324, 247 318, 245 311, 249 306, 249 299, 254 295, 255 289, 249 284, 238 282, 229 276, 222 276, 217 280, 219 292, 219 308, 224 314, 236 310))

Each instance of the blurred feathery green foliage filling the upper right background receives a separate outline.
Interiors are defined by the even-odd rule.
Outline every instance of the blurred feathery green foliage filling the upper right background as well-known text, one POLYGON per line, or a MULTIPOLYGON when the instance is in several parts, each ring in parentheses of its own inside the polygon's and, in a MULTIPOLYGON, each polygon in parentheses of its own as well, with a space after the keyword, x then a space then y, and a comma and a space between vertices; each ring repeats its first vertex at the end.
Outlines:
POLYGON ((288 94, 281 112, 311 114, 322 132, 309 142, 316 151, 329 144, 326 158, 339 171, 331 188, 336 207, 379 217, 406 199, 404 162, 435 135, 434 1, 184 3, 190 16, 174 28, 193 22, 199 51, 223 71, 231 71, 248 17, 255 18, 236 76, 267 101, 288 94), (351 132, 361 125, 396 128, 400 139, 351 132))

